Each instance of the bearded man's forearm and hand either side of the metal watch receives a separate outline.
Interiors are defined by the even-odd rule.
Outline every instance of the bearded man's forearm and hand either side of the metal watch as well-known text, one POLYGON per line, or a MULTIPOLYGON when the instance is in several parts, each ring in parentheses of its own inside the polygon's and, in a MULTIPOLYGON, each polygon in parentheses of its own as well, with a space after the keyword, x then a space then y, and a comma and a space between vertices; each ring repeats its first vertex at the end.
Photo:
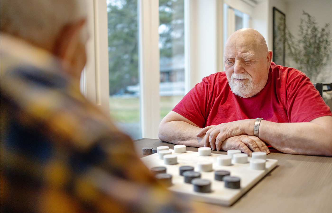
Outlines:
MULTIPOLYGON (((239 120, 203 128, 206 144, 220 146, 226 138, 254 134, 255 119, 239 120)), ((289 154, 332 156, 332 116, 323 116, 303 123, 261 121, 259 138, 274 148, 289 154)))

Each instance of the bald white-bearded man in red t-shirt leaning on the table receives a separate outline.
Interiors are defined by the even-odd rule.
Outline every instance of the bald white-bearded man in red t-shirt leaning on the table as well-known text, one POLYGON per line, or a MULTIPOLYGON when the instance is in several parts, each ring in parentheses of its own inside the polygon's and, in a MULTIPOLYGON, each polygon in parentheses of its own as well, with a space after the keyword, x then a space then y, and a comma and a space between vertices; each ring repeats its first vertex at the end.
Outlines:
POLYGON ((332 113, 300 71, 271 62, 264 37, 227 40, 225 72, 198 83, 161 121, 160 140, 212 150, 332 156, 332 113), (255 130, 254 130, 255 129, 255 130))

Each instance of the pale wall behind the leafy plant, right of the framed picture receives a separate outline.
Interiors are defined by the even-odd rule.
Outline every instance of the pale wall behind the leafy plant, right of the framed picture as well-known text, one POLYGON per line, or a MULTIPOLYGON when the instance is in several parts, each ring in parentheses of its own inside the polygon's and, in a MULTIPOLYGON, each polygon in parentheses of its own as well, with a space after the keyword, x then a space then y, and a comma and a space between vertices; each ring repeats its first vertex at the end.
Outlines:
MULTIPOLYGON (((332 32, 332 1, 331 0, 288 0, 286 10, 286 25, 290 32, 296 36, 300 18, 304 18, 302 11, 314 16, 319 27, 324 27, 325 23, 330 23, 329 29, 332 32)), ((331 38, 332 39, 332 38, 331 38)), ((287 66, 294 66, 291 60, 286 60, 287 66)), ((325 82, 332 82, 332 59, 326 69, 330 72, 325 82)))

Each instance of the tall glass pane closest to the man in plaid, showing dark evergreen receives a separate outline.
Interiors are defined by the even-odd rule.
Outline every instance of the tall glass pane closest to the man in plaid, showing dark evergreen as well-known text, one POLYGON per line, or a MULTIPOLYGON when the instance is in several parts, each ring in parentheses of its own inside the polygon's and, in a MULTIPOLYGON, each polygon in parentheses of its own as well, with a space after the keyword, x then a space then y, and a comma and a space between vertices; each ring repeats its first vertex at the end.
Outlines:
POLYGON ((140 139, 137 0, 107 0, 107 12, 111 117, 140 139))

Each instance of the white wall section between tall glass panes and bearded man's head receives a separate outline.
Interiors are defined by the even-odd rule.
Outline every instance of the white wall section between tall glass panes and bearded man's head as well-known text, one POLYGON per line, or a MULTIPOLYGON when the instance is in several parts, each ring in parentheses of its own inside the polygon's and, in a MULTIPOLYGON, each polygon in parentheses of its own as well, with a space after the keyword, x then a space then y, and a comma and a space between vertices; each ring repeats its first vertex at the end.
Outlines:
POLYGON ((222 71, 222 1, 190 0, 189 7, 189 89, 202 78, 222 71))

